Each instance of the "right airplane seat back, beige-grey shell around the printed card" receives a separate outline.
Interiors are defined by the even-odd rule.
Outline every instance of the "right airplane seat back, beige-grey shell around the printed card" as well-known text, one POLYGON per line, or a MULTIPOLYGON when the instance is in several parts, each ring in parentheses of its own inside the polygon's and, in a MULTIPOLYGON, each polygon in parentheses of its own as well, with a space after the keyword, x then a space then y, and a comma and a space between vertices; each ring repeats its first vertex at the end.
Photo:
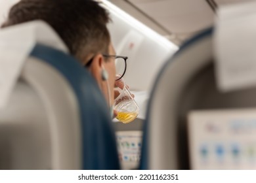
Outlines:
MULTIPOLYGON (((150 94, 140 169, 192 169, 188 133, 188 114, 192 110, 256 107, 255 87, 219 91, 214 59, 213 29, 207 29, 165 63, 150 94)), ((230 167, 237 168, 241 167, 230 167)))

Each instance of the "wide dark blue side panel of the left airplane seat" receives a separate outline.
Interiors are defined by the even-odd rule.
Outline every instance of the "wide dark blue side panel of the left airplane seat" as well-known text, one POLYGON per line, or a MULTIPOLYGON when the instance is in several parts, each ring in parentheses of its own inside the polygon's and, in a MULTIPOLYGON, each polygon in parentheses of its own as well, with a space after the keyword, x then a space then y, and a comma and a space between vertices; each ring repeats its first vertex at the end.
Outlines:
POLYGON ((119 169, 116 137, 102 93, 93 77, 72 56, 37 44, 31 54, 60 72, 79 103, 83 142, 83 169, 119 169))

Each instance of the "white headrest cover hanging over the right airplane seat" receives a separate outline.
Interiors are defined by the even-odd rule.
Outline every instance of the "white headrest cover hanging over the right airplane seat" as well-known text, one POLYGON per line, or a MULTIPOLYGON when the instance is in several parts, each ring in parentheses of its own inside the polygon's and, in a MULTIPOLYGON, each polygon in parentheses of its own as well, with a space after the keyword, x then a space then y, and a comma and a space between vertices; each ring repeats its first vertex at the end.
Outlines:
POLYGON ((256 3, 220 7, 214 37, 217 84, 228 92, 256 86, 256 3))

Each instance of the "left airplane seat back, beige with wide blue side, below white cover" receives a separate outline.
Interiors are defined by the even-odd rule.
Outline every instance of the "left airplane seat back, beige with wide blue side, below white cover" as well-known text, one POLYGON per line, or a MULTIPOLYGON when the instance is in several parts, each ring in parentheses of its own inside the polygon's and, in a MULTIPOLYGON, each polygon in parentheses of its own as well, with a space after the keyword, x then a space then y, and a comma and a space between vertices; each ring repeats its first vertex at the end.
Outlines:
POLYGON ((119 169, 109 113, 76 59, 35 44, 0 109, 0 169, 119 169))

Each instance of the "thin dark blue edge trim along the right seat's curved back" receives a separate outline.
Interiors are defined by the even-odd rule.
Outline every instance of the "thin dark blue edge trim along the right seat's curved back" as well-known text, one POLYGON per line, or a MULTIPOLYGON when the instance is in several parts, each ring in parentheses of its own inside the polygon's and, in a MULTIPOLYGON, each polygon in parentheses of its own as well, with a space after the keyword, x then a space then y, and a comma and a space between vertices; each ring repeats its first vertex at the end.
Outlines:
POLYGON ((158 88, 158 83, 161 80, 162 76, 165 75, 165 71, 167 70, 168 67, 171 66, 171 63, 175 61, 175 58, 185 52, 188 48, 196 44, 196 42, 204 39, 205 37, 211 36, 213 33, 213 28, 206 29, 202 33, 196 35, 192 39, 188 40, 187 42, 184 42, 182 46, 180 47, 179 51, 176 52, 171 58, 168 59, 168 61, 163 65, 161 68, 160 72, 158 73, 158 76, 156 77, 156 80, 154 82, 154 86, 152 89, 152 92, 150 93, 150 100, 148 101, 148 107, 147 107, 147 112, 146 112, 146 120, 144 122, 143 126, 143 137, 142 137, 142 150, 141 150, 141 159, 140 159, 140 165, 139 169, 149 169, 149 156, 148 156, 148 150, 149 150, 149 144, 148 144, 148 130, 149 130, 149 123, 150 123, 150 112, 151 112, 151 106, 152 106, 152 101, 154 100, 154 95, 156 93, 156 88, 158 88))

